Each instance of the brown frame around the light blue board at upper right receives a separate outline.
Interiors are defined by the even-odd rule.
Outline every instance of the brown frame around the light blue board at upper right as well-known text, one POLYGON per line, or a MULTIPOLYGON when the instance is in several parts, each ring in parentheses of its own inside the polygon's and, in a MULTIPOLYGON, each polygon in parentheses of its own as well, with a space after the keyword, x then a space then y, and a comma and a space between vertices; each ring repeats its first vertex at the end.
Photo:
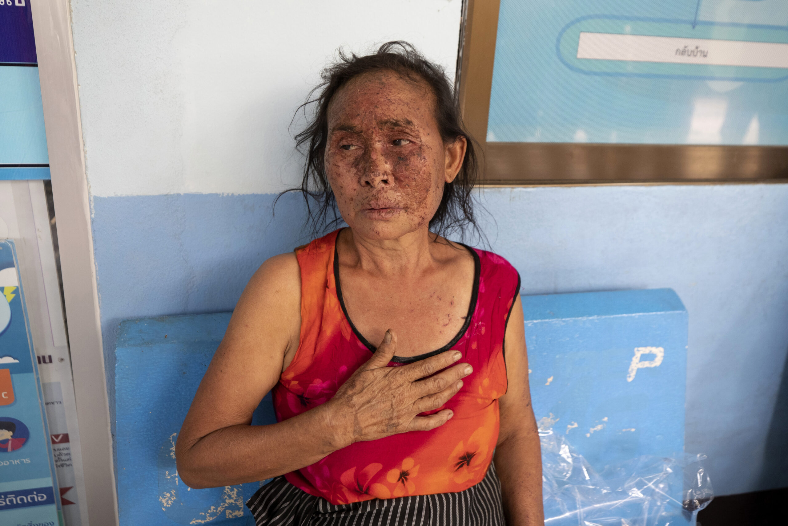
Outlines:
POLYGON ((457 83, 484 185, 788 182, 788 147, 486 141, 500 0, 465 0, 457 83))

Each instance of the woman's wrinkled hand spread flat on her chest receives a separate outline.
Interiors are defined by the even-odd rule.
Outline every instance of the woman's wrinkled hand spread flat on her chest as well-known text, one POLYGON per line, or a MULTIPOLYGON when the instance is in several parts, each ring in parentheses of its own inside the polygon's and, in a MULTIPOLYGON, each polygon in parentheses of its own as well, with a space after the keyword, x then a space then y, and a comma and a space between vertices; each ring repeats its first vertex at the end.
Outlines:
POLYGON ((473 372, 469 364, 441 371, 459 360, 462 353, 445 351, 402 367, 386 367, 395 351, 396 334, 387 330, 372 358, 329 401, 332 421, 339 424, 337 431, 345 445, 406 431, 427 431, 452 418, 450 409, 417 415, 444 405, 463 386, 462 379, 473 372), (424 379, 436 371, 440 373, 424 379))

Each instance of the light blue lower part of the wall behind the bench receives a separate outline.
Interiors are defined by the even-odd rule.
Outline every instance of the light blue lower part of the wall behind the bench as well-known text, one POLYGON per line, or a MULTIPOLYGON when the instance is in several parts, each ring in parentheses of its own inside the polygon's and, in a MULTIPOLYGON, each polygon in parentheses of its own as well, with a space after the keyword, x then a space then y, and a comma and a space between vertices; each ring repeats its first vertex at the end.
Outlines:
MULTIPOLYGON (((272 218, 274 197, 94 197, 110 396, 122 319, 229 310, 264 259, 305 241, 296 196, 272 218)), ((480 199, 523 293, 675 289, 689 311, 686 450, 708 454, 719 494, 788 486, 788 424, 773 421, 788 404, 788 185, 490 188, 480 199)))

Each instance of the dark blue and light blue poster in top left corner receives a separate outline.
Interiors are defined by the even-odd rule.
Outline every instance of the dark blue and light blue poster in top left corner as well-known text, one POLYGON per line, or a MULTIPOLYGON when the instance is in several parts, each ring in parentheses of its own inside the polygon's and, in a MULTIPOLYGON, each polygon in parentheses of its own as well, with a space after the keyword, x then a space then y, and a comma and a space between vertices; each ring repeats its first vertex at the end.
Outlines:
POLYGON ((49 179, 30 0, 0 0, 0 181, 49 179))

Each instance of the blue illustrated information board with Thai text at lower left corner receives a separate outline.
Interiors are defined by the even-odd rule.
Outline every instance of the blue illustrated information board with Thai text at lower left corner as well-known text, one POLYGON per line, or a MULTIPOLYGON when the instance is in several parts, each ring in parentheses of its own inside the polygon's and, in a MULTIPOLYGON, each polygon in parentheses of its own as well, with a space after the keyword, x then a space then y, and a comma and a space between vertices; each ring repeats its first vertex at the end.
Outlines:
POLYGON ((0 241, 0 524, 62 524, 43 392, 12 241, 0 241))

